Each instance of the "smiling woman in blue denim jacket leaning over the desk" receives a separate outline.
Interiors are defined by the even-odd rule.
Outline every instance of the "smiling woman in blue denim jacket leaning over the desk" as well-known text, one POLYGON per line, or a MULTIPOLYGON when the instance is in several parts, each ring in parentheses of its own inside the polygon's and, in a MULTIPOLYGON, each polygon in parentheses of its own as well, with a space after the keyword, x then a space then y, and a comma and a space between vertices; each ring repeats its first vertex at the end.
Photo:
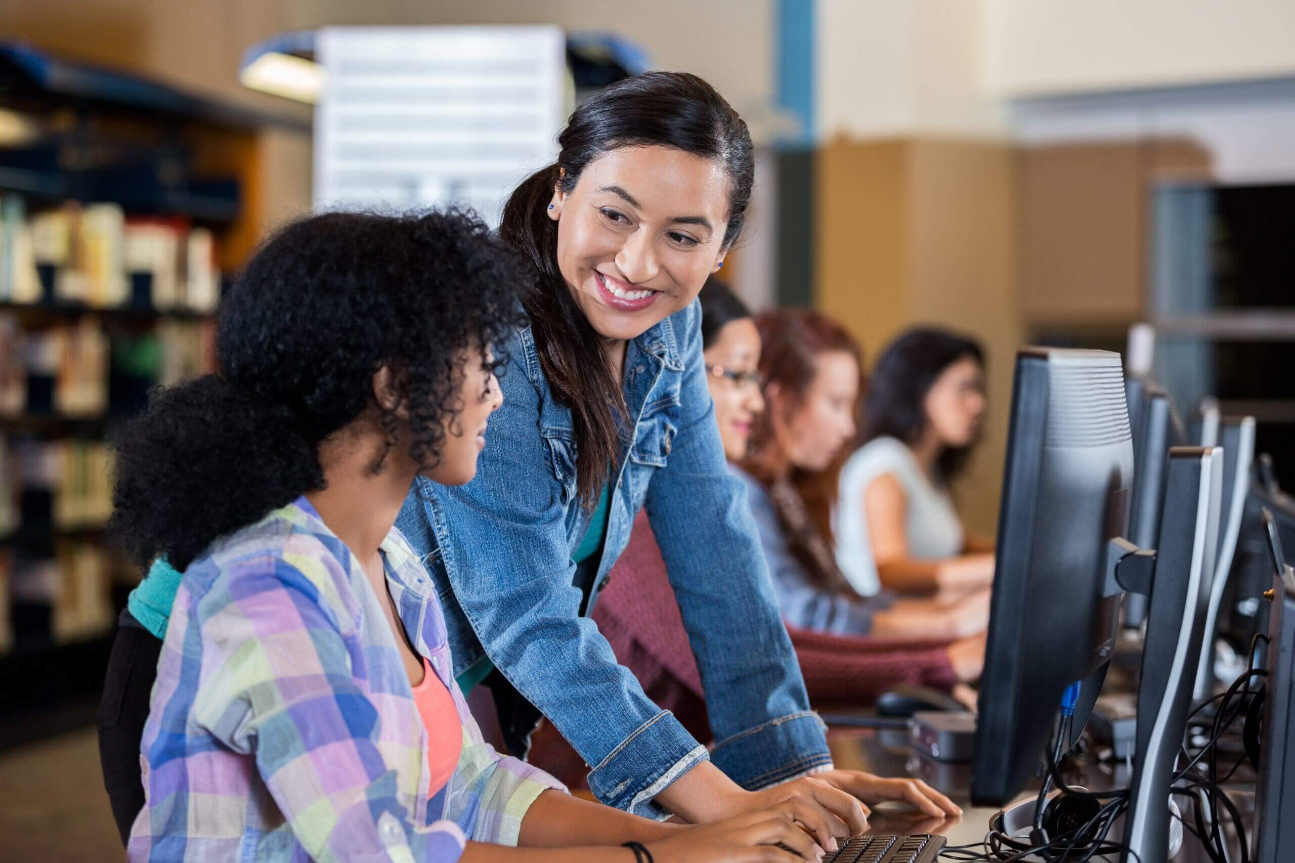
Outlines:
POLYGON ((420 481, 398 521, 442 593, 455 673, 491 678, 515 754, 548 717, 605 803, 706 822, 794 798, 843 834, 860 815, 846 792, 873 777, 831 770, 702 359, 697 294, 754 180, 746 123, 702 79, 649 73, 592 96, 558 143, 504 210, 539 282, 480 472, 420 481), (710 753, 587 617, 641 508, 706 682, 710 753))

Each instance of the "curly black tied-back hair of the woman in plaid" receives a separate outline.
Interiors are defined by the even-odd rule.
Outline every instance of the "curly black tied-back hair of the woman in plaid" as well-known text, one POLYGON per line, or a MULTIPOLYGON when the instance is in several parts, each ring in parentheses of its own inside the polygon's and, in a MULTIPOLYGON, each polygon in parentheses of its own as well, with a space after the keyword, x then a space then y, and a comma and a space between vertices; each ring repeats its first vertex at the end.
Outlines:
MULTIPOLYGON (((466 351, 524 321, 534 270, 475 215, 328 213, 269 238, 227 292, 220 372, 159 390, 117 439, 113 527, 144 566, 177 569, 219 536, 324 487, 319 444, 377 406, 388 367, 411 456, 434 466, 462 408, 466 351)), ((385 457, 385 456, 383 456, 385 457)), ((382 461, 373 465, 379 470, 382 461)))

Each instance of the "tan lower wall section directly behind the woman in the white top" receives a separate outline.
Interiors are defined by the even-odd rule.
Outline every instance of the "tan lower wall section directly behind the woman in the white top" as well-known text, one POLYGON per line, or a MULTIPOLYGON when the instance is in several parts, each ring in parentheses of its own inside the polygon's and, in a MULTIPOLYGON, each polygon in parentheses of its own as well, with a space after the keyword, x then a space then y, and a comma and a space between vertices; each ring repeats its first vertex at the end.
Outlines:
POLYGON ((984 535, 997 524, 1022 338, 1013 159, 1005 143, 838 137, 817 178, 818 306, 862 342, 868 364, 916 324, 969 333, 987 350, 989 420, 956 487, 969 529, 984 535))

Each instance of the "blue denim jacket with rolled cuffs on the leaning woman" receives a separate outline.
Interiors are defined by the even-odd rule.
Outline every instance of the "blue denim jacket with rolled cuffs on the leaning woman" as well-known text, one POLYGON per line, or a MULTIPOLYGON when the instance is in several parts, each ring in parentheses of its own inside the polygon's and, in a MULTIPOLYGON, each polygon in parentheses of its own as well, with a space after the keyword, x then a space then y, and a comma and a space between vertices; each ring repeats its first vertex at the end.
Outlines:
POLYGON ((701 305, 627 346, 632 426, 609 478, 606 539, 584 613, 646 508, 706 687, 717 741, 711 753, 644 695, 581 617, 571 555, 589 513, 576 492, 571 411, 550 390, 528 327, 512 333, 505 350, 504 406, 491 419, 477 477, 460 487, 420 479, 396 525, 436 583, 455 674, 488 656, 521 695, 510 702, 512 693, 492 685, 510 748, 524 752, 534 705, 592 767, 598 800, 649 816, 663 811, 653 798, 707 757, 750 789, 830 765, 746 490, 725 466, 701 305))

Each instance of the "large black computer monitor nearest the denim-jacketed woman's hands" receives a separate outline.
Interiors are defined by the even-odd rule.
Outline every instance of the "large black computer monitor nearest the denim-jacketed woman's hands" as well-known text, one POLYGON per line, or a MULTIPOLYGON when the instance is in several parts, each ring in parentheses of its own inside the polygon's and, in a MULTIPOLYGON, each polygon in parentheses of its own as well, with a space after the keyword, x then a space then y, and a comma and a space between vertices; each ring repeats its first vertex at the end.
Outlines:
POLYGON ((980 682, 971 800, 1002 805, 1033 775, 1066 688, 1101 688, 1119 626, 1110 540, 1128 526, 1133 447, 1119 354, 1017 356, 980 682))

